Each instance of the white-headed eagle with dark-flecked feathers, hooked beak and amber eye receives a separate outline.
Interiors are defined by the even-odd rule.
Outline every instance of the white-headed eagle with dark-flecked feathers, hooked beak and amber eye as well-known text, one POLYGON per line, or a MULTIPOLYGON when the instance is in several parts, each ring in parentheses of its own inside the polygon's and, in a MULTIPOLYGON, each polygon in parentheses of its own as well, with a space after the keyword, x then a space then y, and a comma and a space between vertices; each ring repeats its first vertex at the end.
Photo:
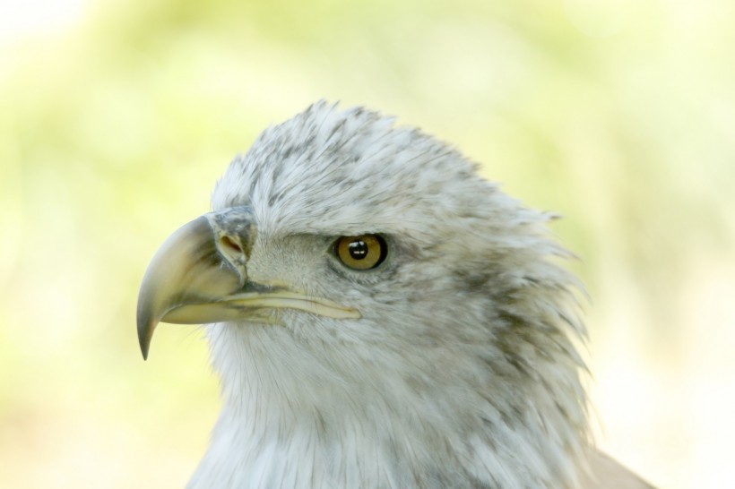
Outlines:
POLYGON ((143 277, 222 407, 191 488, 650 487, 588 430, 584 294, 529 209, 364 107, 269 127, 143 277))

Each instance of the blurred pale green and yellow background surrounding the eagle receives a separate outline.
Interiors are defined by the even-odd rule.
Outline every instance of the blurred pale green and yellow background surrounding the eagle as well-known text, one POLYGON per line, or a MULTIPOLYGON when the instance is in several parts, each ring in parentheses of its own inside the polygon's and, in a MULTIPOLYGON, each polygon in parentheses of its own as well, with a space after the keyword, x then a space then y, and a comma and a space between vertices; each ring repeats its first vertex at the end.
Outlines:
POLYGON ((317 99, 452 142, 565 219, 601 446, 735 478, 735 3, 0 0, 0 486, 181 487, 219 410, 135 301, 229 160, 317 99))

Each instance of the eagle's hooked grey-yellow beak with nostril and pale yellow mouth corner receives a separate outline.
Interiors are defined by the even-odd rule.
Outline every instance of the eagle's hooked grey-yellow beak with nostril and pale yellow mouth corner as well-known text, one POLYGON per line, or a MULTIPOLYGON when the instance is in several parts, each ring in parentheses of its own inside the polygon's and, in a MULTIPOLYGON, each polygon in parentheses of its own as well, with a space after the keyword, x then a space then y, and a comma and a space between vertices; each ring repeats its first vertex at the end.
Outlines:
POLYGON ((169 236, 148 265, 138 295, 143 358, 159 322, 263 321, 258 311, 283 307, 339 319, 360 317, 356 309, 323 297, 248 281, 254 236, 248 207, 204 214, 169 236))

